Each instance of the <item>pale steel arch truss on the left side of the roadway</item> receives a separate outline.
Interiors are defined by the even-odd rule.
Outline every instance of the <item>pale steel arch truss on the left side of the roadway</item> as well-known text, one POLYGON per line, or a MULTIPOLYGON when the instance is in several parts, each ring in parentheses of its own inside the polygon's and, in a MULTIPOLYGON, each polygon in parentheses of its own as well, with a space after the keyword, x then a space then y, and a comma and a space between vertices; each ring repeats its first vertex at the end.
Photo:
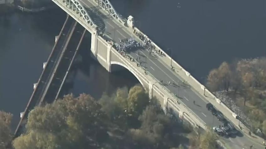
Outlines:
POLYGON ((95 23, 93 23, 93 20, 89 16, 86 9, 79 2, 79 0, 62 0, 62 1, 63 1, 63 3, 66 3, 67 8, 70 8, 74 12, 79 14, 79 16, 82 17, 90 26, 97 27, 97 25, 95 23))

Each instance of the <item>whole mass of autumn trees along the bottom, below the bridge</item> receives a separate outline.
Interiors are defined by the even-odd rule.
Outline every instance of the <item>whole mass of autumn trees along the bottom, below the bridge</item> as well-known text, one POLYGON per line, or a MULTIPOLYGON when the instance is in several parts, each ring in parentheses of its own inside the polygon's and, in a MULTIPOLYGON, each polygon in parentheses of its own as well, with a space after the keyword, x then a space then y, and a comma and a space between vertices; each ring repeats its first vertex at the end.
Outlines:
POLYGON ((181 143, 189 143, 181 134, 183 124, 166 116, 141 86, 104 93, 99 100, 66 95, 35 107, 25 128, 13 140, 14 149, 182 149, 181 143))

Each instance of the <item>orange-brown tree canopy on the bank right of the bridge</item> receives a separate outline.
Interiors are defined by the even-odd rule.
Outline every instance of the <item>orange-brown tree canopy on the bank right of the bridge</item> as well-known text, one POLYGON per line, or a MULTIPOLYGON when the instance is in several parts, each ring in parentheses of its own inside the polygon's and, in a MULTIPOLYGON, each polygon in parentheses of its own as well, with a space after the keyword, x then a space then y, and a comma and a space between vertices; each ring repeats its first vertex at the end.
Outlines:
POLYGON ((212 92, 224 90, 230 97, 228 100, 232 100, 223 102, 237 113, 242 113, 240 117, 253 132, 259 128, 266 137, 265 57, 239 59, 231 64, 223 62, 219 68, 210 71, 206 86, 212 92))

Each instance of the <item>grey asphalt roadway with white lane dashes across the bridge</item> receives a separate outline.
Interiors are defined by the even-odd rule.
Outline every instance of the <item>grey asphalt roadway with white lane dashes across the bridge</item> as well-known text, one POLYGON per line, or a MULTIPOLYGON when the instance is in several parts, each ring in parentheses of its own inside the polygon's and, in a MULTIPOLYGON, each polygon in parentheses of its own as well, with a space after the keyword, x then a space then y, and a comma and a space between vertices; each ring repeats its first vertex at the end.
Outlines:
MULTIPOLYGON (((93 2, 88 0, 82 0, 81 2, 86 10, 88 10, 93 21, 99 26, 99 28, 103 29, 105 36, 110 40, 120 43, 121 39, 135 37, 137 41, 140 41, 135 35, 130 33, 127 28, 114 22, 114 20, 106 15, 106 13, 102 13, 102 10, 95 7, 93 2)), ((191 109, 195 115, 203 120, 207 126, 213 127, 221 125, 221 122, 206 109, 206 103, 208 102, 204 97, 199 95, 189 85, 184 84, 180 76, 171 70, 170 64, 165 64, 158 59, 158 57, 162 55, 155 53, 149 54, 145 49, 136 49, 129 54, 135 59, 139 58, 142 62, 142 67, 145 67, 146 71, 150 72, 157 80, 163 80, 162 85, 164 85, 170 93, 177 94, 178 97, 180 97, 180 100, 182 100, 182 102, 191 109), (174 82, 174 85, 169 85, 169 81, 174 82), (195 101, 195 104, 193 101, 195 101)), ((230 138, 222 137, 222 140, 224 140, 232 149, 249 148, 250 145, 254 144, 253 141, 249 140, 247 136, 243 136, 243 134, 230 138)), ((253 149, 255 148, 256 147, 254 146, 253 149)))

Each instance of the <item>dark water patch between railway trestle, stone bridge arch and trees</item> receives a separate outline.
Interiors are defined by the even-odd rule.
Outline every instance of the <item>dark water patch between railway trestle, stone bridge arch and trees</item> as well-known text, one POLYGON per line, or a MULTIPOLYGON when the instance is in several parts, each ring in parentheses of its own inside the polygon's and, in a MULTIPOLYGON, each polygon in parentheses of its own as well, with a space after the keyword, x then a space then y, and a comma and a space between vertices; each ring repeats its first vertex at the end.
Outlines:
MULTIPOLYGON (((86 39, 85 41, 90 41, 86 39)), ((60 96, 73 93, 75 96, 86 93, 92 95, 95 99, 99 99, 106 92, 113 94, 117 88, 127 86, 128 88, 139 84, 136 77, 127 69, 121 69, 109 73, 96 60, 91 58, 91 53, 87 50, 90 43, 83 45, 77 54, 70 74, 60 96)))

